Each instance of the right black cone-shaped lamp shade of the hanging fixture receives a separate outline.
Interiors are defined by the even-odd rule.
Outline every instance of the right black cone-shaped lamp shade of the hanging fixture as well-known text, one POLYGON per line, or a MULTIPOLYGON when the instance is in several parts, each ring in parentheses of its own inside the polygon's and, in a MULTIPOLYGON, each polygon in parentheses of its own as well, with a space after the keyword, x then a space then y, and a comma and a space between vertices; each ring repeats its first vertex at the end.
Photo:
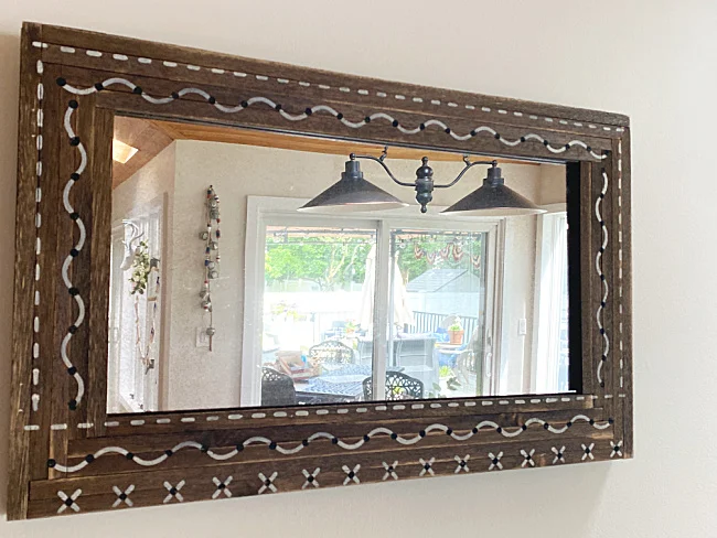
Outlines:
POLYGON ((505 186, 501 169, 488 169, 488 177, 477 191, 441 213, 460 213, 465 216, 518 216, 545 213, 525 196, 505 186))

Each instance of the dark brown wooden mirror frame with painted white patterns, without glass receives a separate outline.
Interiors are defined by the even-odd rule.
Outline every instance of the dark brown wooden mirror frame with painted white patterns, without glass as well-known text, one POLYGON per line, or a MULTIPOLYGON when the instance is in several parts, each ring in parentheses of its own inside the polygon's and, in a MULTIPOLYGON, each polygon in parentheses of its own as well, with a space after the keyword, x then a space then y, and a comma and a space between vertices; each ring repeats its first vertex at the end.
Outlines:
POLYGON ((627 117, 34 23, 21 54, 10 519, 632 455, 627 117), (108 418, 116 112, 577 163, 582 394, 108 418))

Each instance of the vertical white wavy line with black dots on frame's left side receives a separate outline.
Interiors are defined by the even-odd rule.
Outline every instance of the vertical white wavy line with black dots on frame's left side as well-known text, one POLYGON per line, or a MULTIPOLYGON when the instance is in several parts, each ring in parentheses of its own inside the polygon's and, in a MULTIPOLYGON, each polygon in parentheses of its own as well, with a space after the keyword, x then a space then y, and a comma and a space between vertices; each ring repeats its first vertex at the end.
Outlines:
MULTIPOLYGON (((95 89, 95 88, 93 88, 95 89)), ((95 89, 96 90, 96 89, 95 89)), ((84 95, 84 94, 81 94, 84 95)), ((67 137, 69 140, 73 140, 76 138, 75 131, 72 128, 72 114, 76 108, 76 104, 74 107, 69 106, 67 107, 67 110, 65 111, 65 117, 64 117, 64 127, 65 131, 67 132, 67 137)), ((77 143, 77 150, 79 151, 79 165, 75 170, 76 175, 82 175, 82 173, 85 171, 85 168, 87 166, 87 151, 85 150, 85 147, 83 146, 82 142, 77 143)), ((67 212, 67 215, 73 215, 75 213, 74 207, 72 206, 72 203, 69 202, 69 193, 72 191, 73 185, 75 184, 74 179, 67 180, 67 183, 65 184, 65 187, 63 189, 62 193, 62 202, 63 206, 65 207, 65 211, 67 212)), ((87 238, 87 230, 85 229, 85 224, 83 223, 82 218, 77 217, 74 219, 75 226, 77 226, 77 229, 79 230, 79 237, 77 238, 77 243, 73 247, 73 250, 79 252, 83 247, 85 246, 85 240, 87 238)), ((69 265, 73 261, 73 256, 67 255, 65 258, 65 261, 62 265, 62 279, 65 286, 67 287, 67 290, 72 290, 73 283, 72 280, 69 279, 68 276, 68 270, 69 270, 69 265)), ((77 318, 75 318, 75 321, 73 323, 73 327, 79 329, 82 324, 85 321, 85 301, 83 300, 82 295, 79 293, 73 295, 75 299, 75 303, 77 304, 77 318)), ((75 330, 76 330, 75 329, 75 330)), ((67 346, 69 344, 69 341, 73 337, 73 332, 67 331, 65 334, 64 338, 62 340, 62 344, 60 346, 60 356, 62 358, 62 362, 64 365, 67 367, 68 373, 69 369, 74 369, 74 373, 72 373, 72 377, 74 377, 76 384, 77 384, 77 391, 75 394, 74 402, 75 407, 79 405, 79 402, 83 399, 83 396, 85 395, 85 381, 77 372, 77 368, 74 367, 72 364, 72 361, 69 359, 69 356, 67 354, 67 346)))

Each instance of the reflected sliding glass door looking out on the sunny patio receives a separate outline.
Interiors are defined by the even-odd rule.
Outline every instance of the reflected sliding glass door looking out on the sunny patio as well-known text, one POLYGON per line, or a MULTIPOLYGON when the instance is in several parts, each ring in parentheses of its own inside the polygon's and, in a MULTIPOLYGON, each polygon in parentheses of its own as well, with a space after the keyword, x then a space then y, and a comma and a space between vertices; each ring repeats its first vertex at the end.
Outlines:
POLYGON ((489 391, 497 223, 436 222, 263 215, 244 405, 489 391))

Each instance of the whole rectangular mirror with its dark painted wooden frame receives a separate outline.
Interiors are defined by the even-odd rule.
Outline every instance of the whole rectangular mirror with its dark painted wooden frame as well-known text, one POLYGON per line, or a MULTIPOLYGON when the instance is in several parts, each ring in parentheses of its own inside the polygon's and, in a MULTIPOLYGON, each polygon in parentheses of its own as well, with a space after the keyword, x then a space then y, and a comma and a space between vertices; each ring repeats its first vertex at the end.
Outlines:
POLYGON ((11 518, 631 456, 624 116, 39 24, 21 68, 11 518))

